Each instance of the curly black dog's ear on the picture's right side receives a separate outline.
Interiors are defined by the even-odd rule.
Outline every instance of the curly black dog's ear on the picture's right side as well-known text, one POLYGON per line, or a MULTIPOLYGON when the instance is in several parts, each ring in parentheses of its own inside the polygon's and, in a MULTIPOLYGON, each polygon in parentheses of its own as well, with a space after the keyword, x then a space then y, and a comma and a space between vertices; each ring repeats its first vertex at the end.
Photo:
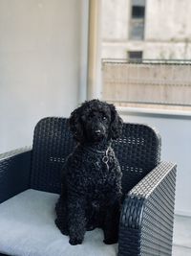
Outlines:
POLYGON ((115 105, 110 105, 110 109, 111 109, 111 124, 110 124, 109 138, 115 140, 120 136, 122 132, 123 121, 119 117, 115 105))

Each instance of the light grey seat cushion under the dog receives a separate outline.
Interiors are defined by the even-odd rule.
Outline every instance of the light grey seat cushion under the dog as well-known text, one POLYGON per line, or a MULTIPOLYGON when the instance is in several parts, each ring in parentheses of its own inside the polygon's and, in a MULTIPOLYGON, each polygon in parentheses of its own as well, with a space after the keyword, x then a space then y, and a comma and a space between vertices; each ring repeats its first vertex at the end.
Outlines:
POLYGON ((83 244, 71 245, 54 224, 58 195, 27 190, 0 204, 0 252, 16 256, 114 256, 101 229, 88 231, 83 244))

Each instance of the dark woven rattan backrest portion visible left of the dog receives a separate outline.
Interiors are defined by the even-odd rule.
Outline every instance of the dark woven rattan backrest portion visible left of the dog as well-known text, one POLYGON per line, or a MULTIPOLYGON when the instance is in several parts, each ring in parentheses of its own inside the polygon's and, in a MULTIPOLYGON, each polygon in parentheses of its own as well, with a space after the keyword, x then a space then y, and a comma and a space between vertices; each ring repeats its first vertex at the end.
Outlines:
POLYGON ((73 149, 67 119, 42 119, 34 129, 31 187, 60 193, 60 171, 73 149))

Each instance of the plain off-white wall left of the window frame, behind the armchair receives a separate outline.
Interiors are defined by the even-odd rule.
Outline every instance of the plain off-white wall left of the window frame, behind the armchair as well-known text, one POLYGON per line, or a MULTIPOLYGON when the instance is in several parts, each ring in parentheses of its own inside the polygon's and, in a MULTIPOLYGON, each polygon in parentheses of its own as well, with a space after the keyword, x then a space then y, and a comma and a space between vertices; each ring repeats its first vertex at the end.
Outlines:
POLYGON ((87 3, 0 0, 0 152, 32 145, 40 118, 68 116, 83 98, 87 3))

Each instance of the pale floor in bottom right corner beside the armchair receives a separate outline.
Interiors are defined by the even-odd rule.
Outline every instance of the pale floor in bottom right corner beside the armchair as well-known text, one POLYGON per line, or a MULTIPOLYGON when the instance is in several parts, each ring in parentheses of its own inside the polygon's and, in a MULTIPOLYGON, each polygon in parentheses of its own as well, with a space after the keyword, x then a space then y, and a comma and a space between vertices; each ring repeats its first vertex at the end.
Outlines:
POLYGON ((191 217, 175 216, 173 256, 191 256, 191 217))

